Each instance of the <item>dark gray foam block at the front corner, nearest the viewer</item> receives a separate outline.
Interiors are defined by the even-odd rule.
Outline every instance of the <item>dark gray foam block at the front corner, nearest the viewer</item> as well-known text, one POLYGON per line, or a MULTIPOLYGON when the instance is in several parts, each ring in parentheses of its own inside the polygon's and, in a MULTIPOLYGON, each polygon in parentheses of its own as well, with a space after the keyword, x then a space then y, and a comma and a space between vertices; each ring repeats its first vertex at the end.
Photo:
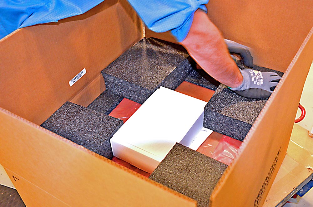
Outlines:
POLYGON ((226 168, 227 165, 177 143, 149 178, 196 200, 198 206, 209 206, 210 195, 226 168))

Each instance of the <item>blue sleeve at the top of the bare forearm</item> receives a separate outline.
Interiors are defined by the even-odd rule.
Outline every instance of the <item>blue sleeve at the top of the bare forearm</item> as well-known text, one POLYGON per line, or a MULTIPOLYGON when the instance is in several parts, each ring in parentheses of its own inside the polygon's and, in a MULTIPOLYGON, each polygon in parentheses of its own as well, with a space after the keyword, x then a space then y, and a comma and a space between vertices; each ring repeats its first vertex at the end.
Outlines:
POLYGON ((128 0, 146 26, 154 32, 171 31, 182 42, 191 27, 194 12, 208 0, 128 0))

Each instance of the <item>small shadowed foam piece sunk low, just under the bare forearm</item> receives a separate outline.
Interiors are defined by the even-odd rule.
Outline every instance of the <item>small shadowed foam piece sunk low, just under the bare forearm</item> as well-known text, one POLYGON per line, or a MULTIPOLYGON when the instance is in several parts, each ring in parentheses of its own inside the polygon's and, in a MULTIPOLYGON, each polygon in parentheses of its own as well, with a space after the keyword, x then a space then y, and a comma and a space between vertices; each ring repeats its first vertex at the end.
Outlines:
POLYGON ((209 76, 203 69, 194 68, 186 77, 185 81, 215 91, 220 82, 209 76))

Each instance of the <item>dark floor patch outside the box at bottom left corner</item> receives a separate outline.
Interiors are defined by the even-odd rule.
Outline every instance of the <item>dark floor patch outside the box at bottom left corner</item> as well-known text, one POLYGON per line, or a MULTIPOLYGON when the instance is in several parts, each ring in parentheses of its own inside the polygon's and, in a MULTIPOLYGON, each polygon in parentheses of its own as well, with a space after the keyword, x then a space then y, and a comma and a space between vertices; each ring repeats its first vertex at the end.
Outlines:
POLYGON ((0 206, 24 207, 18 191, 3 185, 0 185, 0 206))

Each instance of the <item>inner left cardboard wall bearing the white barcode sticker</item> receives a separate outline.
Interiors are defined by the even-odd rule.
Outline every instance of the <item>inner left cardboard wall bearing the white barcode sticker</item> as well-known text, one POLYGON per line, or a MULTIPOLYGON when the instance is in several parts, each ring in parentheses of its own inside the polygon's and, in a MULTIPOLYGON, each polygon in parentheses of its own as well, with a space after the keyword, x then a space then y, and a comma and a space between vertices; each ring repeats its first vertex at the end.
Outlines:
POLYGON ((125 0, 17 30, 0 41, 0 107, 41 124, 142 35, 141 21, 125 0), (70 87, 84 68, 87 73, 70 87))

